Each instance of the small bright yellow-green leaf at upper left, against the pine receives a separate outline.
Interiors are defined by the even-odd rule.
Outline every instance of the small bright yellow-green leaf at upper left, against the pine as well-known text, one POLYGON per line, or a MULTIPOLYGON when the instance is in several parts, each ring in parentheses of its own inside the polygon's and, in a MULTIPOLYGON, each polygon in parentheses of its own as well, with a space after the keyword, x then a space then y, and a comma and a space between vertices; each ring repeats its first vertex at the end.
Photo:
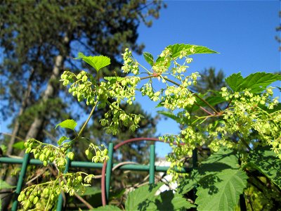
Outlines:
POLYGON ((101 68, 104 68, 107 65, 110 65, 110 58, 107 56, 85 56, 83 53, 79 52, 78 57, 75 59, 81 58, 86 63, 91 65, 98 72, 101 68))

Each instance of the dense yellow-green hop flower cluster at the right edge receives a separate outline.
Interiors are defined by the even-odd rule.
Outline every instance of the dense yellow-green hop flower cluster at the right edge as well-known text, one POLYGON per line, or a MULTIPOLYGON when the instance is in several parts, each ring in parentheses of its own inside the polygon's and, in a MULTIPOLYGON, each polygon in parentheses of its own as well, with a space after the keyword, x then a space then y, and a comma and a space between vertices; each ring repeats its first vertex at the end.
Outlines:
MULTIPOLYGON (((269 87, 262 94, 251 90, 231 93, 226 87, 221 89, 221 96, 231 99, 231 104, 223 112, 223 124, 216 129, 209 129, 210 138, 214 139, 210 147, 217 150, 219 146, 234 147, 231 136, 236 134, 253 146, 270 145, 281 158, 281 111, 275 110, 277 98, 272 98, 273 88, 269 87), (218 138, 219 137, 219 138, 218 138)), ((244 147, 240 141, 238 147, 244 147)))

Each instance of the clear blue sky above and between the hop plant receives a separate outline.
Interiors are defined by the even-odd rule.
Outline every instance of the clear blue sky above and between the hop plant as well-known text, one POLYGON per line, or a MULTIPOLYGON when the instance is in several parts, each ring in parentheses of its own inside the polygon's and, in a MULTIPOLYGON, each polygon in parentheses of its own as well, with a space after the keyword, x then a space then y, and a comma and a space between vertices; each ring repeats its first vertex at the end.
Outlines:
MULTIPOLYGON (((280 71, 278 35, 280 1, 165 1, 152 27, 139 27, 139 43, 145 51, 159 55, 169 44, 185 43, 207 46, 219 54, 193 56, 189 72, 214 67, 226 76, 241 72, 245 77, 252 72, 280 71)), ((135 58, 145 64, 142 56, 135 58)), ((280 85, 280 84, 275 84, 280 85)), ((138 98, 143 108, 155 115, 155 103, 138 98)), ((159 134, 176 133, 172 120, 157 125, 159 134)), ((169 146, 157 144, 157 153, 164 155, 169 146)))

